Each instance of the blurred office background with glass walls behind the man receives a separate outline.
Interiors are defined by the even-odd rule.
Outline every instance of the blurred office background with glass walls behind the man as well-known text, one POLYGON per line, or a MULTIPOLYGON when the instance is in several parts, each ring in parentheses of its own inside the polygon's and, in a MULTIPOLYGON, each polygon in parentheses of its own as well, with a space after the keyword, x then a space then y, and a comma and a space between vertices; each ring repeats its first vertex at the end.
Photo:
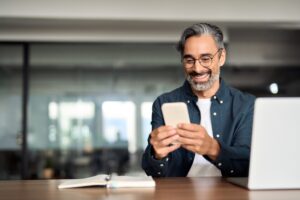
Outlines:
POLYGON ((299 96, 299 8, 293 0, 0 0, 0 179, 143 174, 152 102, 183 83, 175 44, 196 22, 222 27, 230 85, 299 96))

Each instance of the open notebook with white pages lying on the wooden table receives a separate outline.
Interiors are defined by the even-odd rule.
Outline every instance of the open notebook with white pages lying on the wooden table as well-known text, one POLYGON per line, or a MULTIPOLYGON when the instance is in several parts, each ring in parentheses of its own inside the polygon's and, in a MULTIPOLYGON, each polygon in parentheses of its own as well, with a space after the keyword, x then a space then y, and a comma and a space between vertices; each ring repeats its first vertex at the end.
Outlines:
POLYGON ((100 174, 89 178, 72 179, 62 182, 58 188, 77 188, 89 186, 102 186, 107 188, 149 188, 155 187, 151 176, 117 176, 100 174))

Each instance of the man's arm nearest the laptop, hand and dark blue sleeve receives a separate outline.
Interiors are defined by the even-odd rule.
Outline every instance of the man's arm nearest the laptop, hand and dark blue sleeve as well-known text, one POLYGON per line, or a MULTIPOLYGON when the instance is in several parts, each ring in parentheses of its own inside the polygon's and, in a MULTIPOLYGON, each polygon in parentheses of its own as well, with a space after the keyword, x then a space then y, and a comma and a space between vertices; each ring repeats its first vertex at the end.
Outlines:
POLYGON ((241 110, 228 138, 212 138, 199 124, 179 124, 178 141, 188 151, 201 154, 222 172, 223 176, 247 176, 253 121, 253 104, 241 110), (227 141, 227 143, 224 142, 227 141))

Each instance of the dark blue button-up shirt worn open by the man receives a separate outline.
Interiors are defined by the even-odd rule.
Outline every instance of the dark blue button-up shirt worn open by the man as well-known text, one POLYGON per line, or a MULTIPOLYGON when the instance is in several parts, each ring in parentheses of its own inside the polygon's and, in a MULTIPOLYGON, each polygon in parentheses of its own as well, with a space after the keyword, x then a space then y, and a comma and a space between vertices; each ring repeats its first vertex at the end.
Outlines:
MULTIPOLYGON (((200 124, 201 115, 197 106, 198 97, 190 84, 159 96, 152 107, 152 130, 165 125, 161 106, 167 102, 185 102, 191 123, 200 124)), ((229 87, 220 79, 220 88, 211 98, 211 123, 213 137, 220 144, 220 154, 216 160, 208 161, 221 170, 222 176, 248 176, 251 146, 251 132, 255 97, 229 87)), ((154 177, 186 176, 192 166, 195 154, 184 148, 171 152, 167 157, 154 158, 153 147, 149 143, 142 158, 142 168, 154 177)))

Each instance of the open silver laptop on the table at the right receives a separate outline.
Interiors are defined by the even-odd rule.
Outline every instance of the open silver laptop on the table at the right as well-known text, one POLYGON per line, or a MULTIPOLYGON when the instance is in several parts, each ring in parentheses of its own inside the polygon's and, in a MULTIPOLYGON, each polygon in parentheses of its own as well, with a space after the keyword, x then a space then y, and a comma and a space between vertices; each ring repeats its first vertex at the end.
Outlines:
POLYGON ((300 188, 300 98, 257 98, 248 178, 227 178, 249 190, 300 188))

